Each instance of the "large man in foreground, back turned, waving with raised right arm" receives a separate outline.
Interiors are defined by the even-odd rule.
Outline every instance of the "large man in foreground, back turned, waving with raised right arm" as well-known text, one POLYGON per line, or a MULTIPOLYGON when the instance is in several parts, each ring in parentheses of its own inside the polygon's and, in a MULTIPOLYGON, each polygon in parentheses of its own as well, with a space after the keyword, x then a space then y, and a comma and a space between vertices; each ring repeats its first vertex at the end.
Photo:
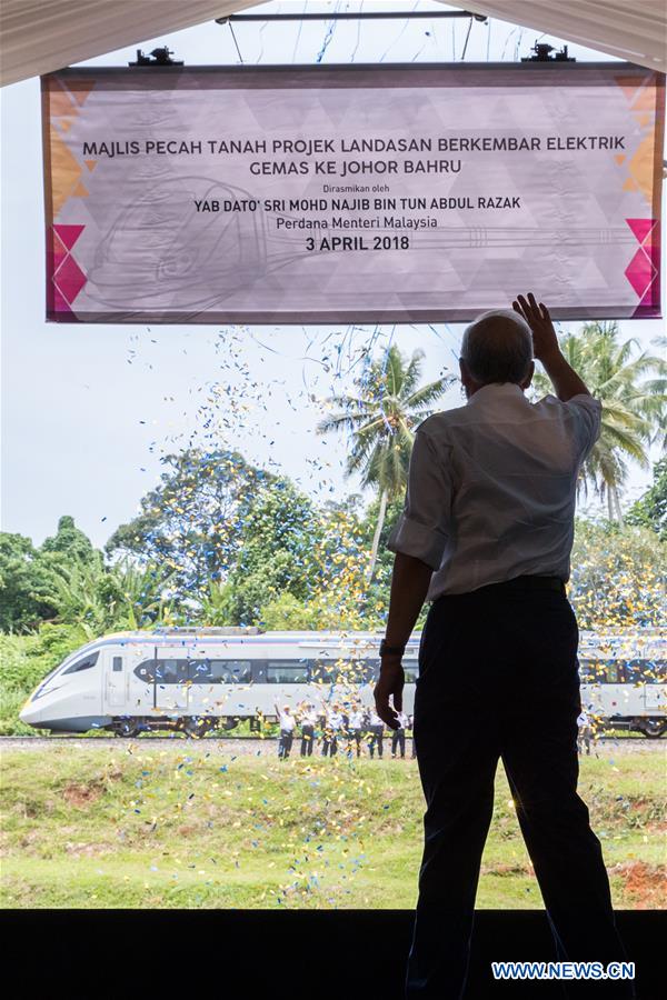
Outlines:
MULTIPOLYGON (((427 810, 409 1000, 464 996, 499 758, 558 959, 626 961, 600 843, 577 794, 579 636, 565 592, 577 477, 601 404, 561 354, 546 307, 532 293, 512 306, 466 329, 468 401, 417 429, 405 510, 388 542, 396 560, 375 698, 392 729, 402 652, 432 601, 415 698, 427 810), (534 357, 557 398, 524 396, 534 357)), ((515 956, 497 959, 532 958, 520 952, 517 941, 515 956)), ((635 996, 627 980, 567 987, 573 997, 635 996)))

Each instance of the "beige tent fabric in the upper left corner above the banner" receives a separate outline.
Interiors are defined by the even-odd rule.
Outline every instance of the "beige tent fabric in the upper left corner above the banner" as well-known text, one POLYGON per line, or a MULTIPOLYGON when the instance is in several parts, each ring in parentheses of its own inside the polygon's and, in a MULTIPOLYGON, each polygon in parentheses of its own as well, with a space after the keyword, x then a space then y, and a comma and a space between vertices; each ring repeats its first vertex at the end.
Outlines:
POLYGON ((0 84, 257 6, 258 0, 0 0, 0 84))

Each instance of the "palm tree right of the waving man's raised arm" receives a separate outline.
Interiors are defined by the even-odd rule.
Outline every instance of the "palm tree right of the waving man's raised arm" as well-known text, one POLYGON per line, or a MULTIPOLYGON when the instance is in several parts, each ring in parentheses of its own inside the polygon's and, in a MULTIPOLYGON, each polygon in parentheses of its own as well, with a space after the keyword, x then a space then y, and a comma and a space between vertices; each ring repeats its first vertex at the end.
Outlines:
MULTIPOLYGON (((618 341, 618 323, 586 323, 568 333, 561 350, 588 389, 603 403, 600 437, 586 459, 578 488, 589 487, 607 500, 609 520, 621 520, 620 492, 627 479, 627 460, 648 467, 648 448, 665 426, 667 364, 646 351, 635 353, 636 340, 618 341)), ((551 392, 545 374, 537 373, 539 393, 551 392)))

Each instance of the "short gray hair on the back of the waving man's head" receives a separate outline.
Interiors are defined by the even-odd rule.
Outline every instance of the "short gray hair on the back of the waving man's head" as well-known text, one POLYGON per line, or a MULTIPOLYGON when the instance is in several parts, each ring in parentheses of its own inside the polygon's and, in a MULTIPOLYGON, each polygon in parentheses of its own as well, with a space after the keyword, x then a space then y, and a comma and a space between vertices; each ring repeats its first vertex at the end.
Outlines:
POLYGON ((528 374, 532 334, 514 309, 482 312, 464 331, 461 359, 476 382, 516 382, 528 374))

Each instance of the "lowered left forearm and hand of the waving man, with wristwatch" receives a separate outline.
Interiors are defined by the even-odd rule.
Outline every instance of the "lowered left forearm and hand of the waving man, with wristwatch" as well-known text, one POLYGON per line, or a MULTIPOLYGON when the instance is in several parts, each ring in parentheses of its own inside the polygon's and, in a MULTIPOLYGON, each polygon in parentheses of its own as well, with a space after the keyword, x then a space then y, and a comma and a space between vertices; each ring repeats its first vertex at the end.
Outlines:
MULTIPOLYGON (((385 636, 387 646, 406 646, 426 600, 431 574, 431 567, 420 559, 404 552, 396 553, 385 636)), ((380 678, 374 691, 376 711, 390 729, 400 728, 398 712, 402 711, 405 684, 401 659, 396 654, 382 657, 380 678), (394 707, 389 704, 391 696, 394 707)))

